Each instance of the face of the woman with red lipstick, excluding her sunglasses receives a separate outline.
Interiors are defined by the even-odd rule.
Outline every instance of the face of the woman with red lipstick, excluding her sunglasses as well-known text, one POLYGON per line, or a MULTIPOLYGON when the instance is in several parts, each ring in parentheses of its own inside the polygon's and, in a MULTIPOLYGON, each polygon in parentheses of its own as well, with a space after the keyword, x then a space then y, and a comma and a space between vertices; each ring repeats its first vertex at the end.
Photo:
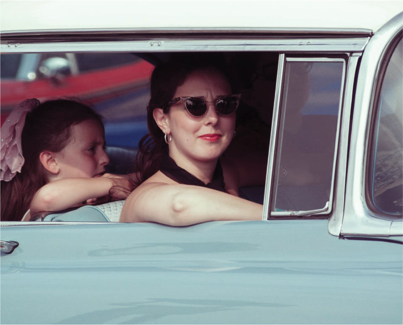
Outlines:
POLYGON ((167 131, 172 136, 169 152, 174 160, 209 161, 223 154, 234 136, 235 113, 218 115, 212 102, 228 95, 232 93, 227 79, 213 69, 193 72, 176 89, 174 98, 198 97, 209 102, 202 117, 190 115, 181 100, 170 107, 167 131))

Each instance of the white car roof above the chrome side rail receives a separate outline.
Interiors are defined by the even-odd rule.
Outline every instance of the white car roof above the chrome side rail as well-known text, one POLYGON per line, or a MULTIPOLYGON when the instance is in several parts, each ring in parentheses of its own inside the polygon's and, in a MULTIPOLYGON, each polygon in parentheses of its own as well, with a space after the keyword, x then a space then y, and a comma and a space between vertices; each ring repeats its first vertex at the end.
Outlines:
POLYGON ((1 0, 0 33, 109 29, 370 29, 403 0, 1 0))

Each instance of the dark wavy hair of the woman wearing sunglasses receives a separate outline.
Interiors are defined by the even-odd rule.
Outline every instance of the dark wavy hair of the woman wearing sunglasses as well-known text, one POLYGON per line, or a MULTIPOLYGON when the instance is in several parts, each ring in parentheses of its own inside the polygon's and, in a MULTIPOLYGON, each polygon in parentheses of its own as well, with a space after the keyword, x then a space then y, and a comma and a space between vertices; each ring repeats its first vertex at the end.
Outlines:
MULTIPOLYGON (((168 152, 168 145, 164 140, 164 133, 158 127, 153 118, 155 108, 163 108, 172 100, 177 87, 183 84, 188 75, 198 70, 215 70, 222 73, 231 85, 230 72, 226 69, 225 59, 220 54, 199 53, 177 54, 166 63, 158 64, 151 74, 150 93, 151 98, 147 106, 147 124, 149 134, 139 142, 139 151, 136 156, 137 181, 140 185, 150 176, 155 174, 161 165, 164 152, 168 152)), ((231 85, 234 90, 233 85, 231 85)))

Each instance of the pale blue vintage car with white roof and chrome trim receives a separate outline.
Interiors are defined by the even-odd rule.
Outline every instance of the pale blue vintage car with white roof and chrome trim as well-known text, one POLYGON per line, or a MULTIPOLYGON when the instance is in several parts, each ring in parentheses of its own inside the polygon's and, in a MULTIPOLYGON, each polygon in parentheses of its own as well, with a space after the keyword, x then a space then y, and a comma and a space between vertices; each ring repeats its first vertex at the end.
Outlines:
MULTIPOLYGON (((21 3, 1 5, 0 60, 224 57, 237 150, 267 176, 242 189, 262 221, 1 222, 1 323, 402 324, 401 1, 21 3)), ((135 150, 111 147, 126 169, 135 150)))

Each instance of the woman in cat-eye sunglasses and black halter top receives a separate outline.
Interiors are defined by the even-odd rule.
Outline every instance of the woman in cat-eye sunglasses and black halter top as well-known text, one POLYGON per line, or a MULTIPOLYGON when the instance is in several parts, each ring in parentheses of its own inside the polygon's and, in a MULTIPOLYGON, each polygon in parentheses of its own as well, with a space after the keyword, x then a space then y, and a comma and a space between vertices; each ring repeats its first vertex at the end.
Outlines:
POLYGON ((154 69, 151 140, 142 139, 138 155, 142 183, 128 196, 121 222, 261 220, 262 205, 238 197, 238 188, 255 185, 258 175, 241 159, 222 157, 235 136, 240 98, 228 80, 219 67, 201 60, 154 69))

